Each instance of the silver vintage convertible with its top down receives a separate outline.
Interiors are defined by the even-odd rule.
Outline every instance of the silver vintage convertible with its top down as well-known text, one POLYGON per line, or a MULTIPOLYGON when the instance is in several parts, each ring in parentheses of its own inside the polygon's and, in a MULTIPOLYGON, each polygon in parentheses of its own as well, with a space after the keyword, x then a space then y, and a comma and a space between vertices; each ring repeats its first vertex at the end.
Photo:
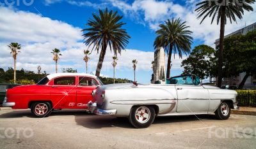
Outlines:
POLYGON ((134 127, 145 128, 156 116, 215 113, 218 119, 227 120, 231 109, 239 109, 236 91, 200 85, 193 75, 175 76, 167 83, 103 85, 93 90, 96 103, 89 102, 88 111, 127 117, 134 127))

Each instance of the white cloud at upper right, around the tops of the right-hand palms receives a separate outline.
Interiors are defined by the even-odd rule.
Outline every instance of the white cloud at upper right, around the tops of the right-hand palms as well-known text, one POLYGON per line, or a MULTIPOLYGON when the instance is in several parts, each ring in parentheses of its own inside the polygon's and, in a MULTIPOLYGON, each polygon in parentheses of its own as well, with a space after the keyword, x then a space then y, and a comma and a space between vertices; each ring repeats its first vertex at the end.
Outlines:
MULTIPOLYGON (((220 36, 220 25, 217 25, 214 21, 211 24, 211 18, 206 18, 202 24, 201 20, 196 17, 195 12, 196 4, 198 0, 186 1, 184 6, 176 4, 175 1, 156 1, 156 0, 135 0, 132 4, 125 3, 120 0, 108 0, 111 5, 124 11, 125 15, 131 18, 136 18, 140 20, 140 23, 147 24, 150 29, 156 31, 158 25, 162 24, 163 21, 168 18, 178 18, 180 17, 183 21, 187 22, 190 26, 190 30, 193 31, 193 38, 200 39, 205 42, 205 44, 214 46, 215 39, 220 36)), ((252 7, 256 9, 256 3, 252 4, 252 7)), ((244 24, 252 24, 256 22, 256 11, 244 11, 243 19, 239 20, 237 18, 236 22, 230 24, 227 22, 225 26, 225 34, 236 31, 244 27, 244 24)))

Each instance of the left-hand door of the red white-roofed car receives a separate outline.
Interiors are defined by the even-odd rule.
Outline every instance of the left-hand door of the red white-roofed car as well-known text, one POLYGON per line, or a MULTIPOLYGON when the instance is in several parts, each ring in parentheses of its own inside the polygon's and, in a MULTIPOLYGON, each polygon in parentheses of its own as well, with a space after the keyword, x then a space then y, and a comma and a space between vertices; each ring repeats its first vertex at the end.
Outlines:
POLYGON ((76 104, 76 76, 54 78, 51 89, 54 108, 72 108, 76 104))

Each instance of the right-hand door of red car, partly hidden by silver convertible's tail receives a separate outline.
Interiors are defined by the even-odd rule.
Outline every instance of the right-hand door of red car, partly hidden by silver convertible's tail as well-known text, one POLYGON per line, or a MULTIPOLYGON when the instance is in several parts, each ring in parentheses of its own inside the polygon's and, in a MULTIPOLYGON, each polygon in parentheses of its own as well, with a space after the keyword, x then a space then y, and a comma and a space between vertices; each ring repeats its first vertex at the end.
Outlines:
POLYGON ((87 103, 93 101, 92 90, 96 89, 98 85, 92 77, 79 76, 76 90, 77 108, 87 108, 87 103))

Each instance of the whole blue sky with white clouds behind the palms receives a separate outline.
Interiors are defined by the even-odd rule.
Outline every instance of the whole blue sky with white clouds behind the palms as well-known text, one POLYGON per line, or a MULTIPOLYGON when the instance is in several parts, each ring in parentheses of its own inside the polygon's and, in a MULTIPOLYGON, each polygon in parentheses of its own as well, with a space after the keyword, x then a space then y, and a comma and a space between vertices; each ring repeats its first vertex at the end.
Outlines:
MULTIPOLYGON (((29 2, 27 0, 27 2, 29 2)), ((132 80, 132 59, 138 60, 137 80, 140 83, 149 83, 152 69, 151 61, 154 59, 153 43, 156 38, 155 31, 159 24, 168 18, 180 17, 187 22, 193 31, 193 46, 207 44, 214 47, 215 39, 219 36, 219 26, 210 24, 206 19, 200 25, 196 19, 196 0, 189 1, 156 1, 156 0, 99 0, 99 1, 73 1, 73 0, 43 0, 31 1, 29 6, 22 3, 6 4, 1 0, 0 6, 0 62, 5 69, 13 65, 12 57, 8 51, 8 43, 19 42, 22 52, 18 55, 17 67, 23 67, 36 71, 40 65, 47 73, 54 73, 54 62, 51 50, 60 48, 63 57, 59 62, 61 67, 72 67, 80 73, 84 72, 83 62, 83 37, 81 29, 92 17, 92 13, 98 13, 99 8, 108 7, 109 10, 118 11, 124 15, 124 29, 131 36, 127 50, 118 55, 118 67, 116 77, 132 80), (32 3, 33 2, 33 3, 32 3)), ((28 5, 28 4, 27 4, 28 5)), ((253 4, 255 8, 255 4, 253 4)), ((256 21, 255 11, 245 13, 243 20, 237 24, 227 24, 225 34, 244 27, 244 24, 252 24, 256 21)), ((113 76, 111 57, 113 53, 108 51, 102 68, 102 75, 113 76)), ((90 55, 89 72, 95 71, 99 54, 93 52, 90 55)), ((173 58, 172 58, 173 59, 173 58)), ((184 55, 183 59, 186 59, 184 55)), ((180 75, 182 59, 175 57, 171 76, 180 75)))

